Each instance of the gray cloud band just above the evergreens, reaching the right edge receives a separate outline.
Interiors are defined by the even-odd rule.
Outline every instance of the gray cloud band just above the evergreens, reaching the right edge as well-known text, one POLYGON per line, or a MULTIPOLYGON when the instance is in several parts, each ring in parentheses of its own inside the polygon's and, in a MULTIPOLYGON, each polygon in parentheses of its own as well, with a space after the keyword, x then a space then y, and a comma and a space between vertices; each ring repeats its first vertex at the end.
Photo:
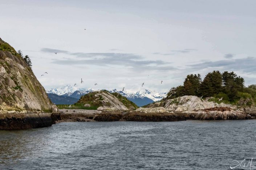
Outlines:
POLYGON ((206 61, 199 64, 189 65, 192 69, 204 69, 219 67, 227 71, 240 71, 244 73, 256 73, 256 58, 247 57, 241 59, 229 59, 219 61, 206 61))

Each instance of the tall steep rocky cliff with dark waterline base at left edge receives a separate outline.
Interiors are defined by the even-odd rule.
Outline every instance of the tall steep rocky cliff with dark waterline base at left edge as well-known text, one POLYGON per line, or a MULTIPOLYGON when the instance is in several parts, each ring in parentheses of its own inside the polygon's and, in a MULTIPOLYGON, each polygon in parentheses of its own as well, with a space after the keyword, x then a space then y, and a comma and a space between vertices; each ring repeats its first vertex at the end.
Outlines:
POLYGON ((55 111, 32 69, 0 39, 0 129, 50 126, 55 111))

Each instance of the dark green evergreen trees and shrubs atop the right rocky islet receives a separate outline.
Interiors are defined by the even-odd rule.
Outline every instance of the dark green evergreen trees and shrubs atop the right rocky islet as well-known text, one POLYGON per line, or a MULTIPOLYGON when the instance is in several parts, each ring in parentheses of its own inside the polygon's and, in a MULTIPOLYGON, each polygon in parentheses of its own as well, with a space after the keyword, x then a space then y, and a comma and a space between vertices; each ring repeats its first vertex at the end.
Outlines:
POLYGON ((243 97, 255 99, 256 85, 246 88, 244 78, 237 76, 234 72, 212 71, 203 79, 200 74, 190 74, 185 78, 183 85, 170 89, 167 99, 183 95, 223 98, 231 102, 243 97))

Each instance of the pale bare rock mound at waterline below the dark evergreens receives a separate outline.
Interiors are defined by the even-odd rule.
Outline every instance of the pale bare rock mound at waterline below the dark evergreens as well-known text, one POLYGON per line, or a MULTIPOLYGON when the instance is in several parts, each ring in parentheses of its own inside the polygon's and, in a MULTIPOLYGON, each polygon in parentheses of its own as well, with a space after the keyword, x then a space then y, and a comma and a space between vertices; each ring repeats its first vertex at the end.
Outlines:
MULTIPOLYGON (((167 111, 184 116, 186 119, 198 120, 225 120, 225 119, 247 119, 245 111, 237 106, 208 102, 192 95, 167 99, 166 101, 152 103, 146 106, 147 111, 163 107, 167 111)), ((163 109, 161 109, 163 110, 163 109)), ((251 118, 251 116, 249 116, 251 118)))

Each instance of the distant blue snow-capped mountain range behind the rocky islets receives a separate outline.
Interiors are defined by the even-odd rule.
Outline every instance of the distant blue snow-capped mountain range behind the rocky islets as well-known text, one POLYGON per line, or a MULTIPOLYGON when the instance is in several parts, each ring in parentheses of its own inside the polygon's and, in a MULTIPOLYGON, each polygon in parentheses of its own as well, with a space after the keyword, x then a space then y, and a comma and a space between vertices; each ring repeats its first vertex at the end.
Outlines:
MULTIPOLYGON (((46 90, 49 98, 55 104, 74 104, 81 96, 88 94, 90 92, 96 91, 94 89, 77 89, 74 86, 66 85, 62 88, 54 88, 46 90), (55 95, 52 95, 55 94, 55 95)), ((157 102, 164 98, 167 93, 159 93, 154 90, 143 89, 136 93, 121 91, 117 89, 110 90, 109 92, 120 93, 122 96, 126 97, 130 101, 134 102, 138 106, 144 106, 149 103, 157 102)))

